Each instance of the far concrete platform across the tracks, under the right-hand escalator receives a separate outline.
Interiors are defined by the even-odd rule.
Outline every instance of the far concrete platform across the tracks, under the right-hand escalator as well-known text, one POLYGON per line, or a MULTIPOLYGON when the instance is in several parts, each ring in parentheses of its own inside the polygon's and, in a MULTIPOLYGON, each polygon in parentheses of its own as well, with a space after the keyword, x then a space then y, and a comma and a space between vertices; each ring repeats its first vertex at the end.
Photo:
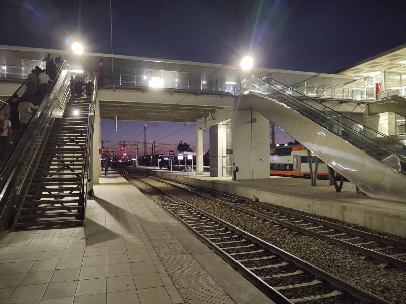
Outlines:
POLYGON ((160 177, 216 189, 237 196, 253 198, 303 212, 326 216, 369 229, 406 236, 406 203, 372 199, 357 194, 355 185, 345 182, 341 192, 328 185, 328 180, 272 176, 269 179, 232 180, 231 177, 210 177, 208 172, 170 171, 139 167, 160 177))

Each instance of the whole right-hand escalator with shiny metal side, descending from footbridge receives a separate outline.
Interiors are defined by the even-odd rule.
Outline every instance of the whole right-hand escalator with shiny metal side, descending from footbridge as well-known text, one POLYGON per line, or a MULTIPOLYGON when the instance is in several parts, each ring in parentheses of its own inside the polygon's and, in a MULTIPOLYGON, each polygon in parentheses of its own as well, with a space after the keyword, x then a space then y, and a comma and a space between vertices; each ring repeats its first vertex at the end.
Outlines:
POLYGON ((256 109, 370 197, 406 201, 405 145, 274 80, 243 87, 236 109, 256 109))

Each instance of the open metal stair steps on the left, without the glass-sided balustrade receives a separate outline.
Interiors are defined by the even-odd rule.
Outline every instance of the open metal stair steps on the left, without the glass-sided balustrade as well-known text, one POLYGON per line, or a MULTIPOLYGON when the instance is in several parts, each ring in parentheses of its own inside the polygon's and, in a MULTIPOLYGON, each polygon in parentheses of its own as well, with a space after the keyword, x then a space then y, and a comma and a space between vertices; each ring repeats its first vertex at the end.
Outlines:
POLYGON ((55 119, 15 217, 16 229, 83 223, 91 103, 88 97, 71 97, 63 117, 55 119))

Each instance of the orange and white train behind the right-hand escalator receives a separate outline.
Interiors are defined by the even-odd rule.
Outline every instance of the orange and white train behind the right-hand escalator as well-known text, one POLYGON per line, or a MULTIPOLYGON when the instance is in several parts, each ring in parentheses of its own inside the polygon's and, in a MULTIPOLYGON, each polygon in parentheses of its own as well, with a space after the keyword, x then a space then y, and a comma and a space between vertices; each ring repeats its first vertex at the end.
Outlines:
MULTIPOLYGON (((316 156, 312 155, 313 170, 316 156)), ((308 154, 302 145, 281 145, 270 149, 270 175, 310 178, 308 154)), ((328 179, 327 164, 319 160, 319 179, 328 179)))

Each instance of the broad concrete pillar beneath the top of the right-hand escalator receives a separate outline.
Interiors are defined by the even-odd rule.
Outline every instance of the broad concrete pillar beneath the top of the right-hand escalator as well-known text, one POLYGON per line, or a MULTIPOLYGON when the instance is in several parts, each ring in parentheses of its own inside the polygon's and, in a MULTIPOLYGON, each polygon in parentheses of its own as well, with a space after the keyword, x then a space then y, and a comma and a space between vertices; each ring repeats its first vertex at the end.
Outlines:
POLYGON ((231 127, 237 179, 269 178, 269 120, 256 110, 234 109, 231 127))

